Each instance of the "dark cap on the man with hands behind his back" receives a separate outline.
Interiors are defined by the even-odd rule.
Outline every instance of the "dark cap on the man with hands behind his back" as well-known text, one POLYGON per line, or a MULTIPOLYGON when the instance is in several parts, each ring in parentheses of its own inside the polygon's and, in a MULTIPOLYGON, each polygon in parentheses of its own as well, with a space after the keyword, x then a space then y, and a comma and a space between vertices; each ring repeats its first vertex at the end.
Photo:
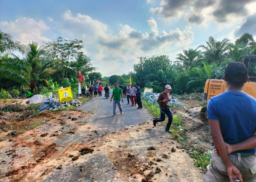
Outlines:
POLYGON ((232 62, 227 65, 224 74, 227 76, 227 80, 241 79, 244 80, 247 77, 247 68, 244 63, 232 62))

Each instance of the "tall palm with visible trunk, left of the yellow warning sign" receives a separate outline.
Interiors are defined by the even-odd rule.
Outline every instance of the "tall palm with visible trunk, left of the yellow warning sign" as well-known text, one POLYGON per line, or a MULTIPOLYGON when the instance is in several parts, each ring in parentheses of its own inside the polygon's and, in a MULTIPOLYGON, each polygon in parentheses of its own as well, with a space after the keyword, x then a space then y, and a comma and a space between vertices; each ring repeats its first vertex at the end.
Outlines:
POLYGON ((44 56, 45 51, 38 48, 34 42, 27 46, 26 61, 30 64, 30 90, 37 92, 38 80, 49 78, 56 69, 53 69, 54 61, 44 56))

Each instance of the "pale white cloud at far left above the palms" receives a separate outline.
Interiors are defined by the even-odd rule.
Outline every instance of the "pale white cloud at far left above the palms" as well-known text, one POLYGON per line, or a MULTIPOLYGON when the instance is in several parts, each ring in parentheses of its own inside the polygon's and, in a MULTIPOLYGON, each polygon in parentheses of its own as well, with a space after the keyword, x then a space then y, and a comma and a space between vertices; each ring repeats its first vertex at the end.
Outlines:
POLYGON ((6 33, 11 32, 15 40, 19 40, 23 44, 29 44, 30 41, 35 41, 42 44, 49 39, 42 34, 49 30, 49 27, 42 20, 34 20, 26 17, 19 17, 14 22, 0 22, 0 27, 6 33))

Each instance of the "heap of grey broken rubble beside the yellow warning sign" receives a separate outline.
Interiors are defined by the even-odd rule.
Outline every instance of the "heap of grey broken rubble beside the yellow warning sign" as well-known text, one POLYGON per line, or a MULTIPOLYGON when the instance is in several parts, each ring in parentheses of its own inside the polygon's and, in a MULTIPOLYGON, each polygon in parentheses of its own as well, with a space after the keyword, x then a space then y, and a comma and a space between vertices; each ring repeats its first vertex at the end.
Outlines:
POLYGON ((44 101, 44 103, 42 104, 41 107, 39 107, 39 110, 56 110, 57 108, 65 108, 65 107, 70 107, 70 106, 81 106, 81 102, 77 99, 75 100, 70 100, 70 101, 66 101, 63 102, 62 104, 60 104, 59 99, 57 98, 48 98, 44 101))

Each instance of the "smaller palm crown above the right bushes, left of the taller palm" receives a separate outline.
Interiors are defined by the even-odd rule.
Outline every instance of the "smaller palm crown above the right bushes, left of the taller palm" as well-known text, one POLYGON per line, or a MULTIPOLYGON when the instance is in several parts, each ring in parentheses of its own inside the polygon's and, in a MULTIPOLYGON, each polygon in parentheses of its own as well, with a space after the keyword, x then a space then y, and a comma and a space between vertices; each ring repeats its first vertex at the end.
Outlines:
POLYGON ((178 57, 176 59, 183 63, 185 69, 190 70, 200 61, 201 51, 197 51, 197 49, 183 50, 183 53, 184 55, 177 54, 178 57))

